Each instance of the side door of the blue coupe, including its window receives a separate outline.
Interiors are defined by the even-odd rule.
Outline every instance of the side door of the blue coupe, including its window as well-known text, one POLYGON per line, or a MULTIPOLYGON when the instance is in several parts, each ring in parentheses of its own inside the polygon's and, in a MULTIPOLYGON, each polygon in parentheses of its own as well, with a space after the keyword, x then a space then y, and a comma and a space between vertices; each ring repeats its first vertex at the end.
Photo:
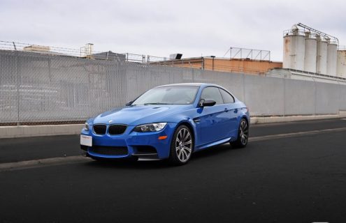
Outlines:
POLYGON ((227 115, 226 106, 222 95, 217 87, 206 87, 201 93, 201 99, 215 100, 216 104, 211 107, 201 108, 201 144, 208 144, 225 137, 224 128, 227 115))

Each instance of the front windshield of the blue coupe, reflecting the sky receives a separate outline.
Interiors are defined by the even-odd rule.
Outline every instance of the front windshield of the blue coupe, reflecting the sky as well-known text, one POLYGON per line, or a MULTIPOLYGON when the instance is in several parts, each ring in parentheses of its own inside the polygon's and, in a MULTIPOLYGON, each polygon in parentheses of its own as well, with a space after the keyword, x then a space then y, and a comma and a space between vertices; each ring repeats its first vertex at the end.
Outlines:
POLYGON ((143 93, 131 105, 189 105, 198 90, 198 86, 161 86, 143 93))

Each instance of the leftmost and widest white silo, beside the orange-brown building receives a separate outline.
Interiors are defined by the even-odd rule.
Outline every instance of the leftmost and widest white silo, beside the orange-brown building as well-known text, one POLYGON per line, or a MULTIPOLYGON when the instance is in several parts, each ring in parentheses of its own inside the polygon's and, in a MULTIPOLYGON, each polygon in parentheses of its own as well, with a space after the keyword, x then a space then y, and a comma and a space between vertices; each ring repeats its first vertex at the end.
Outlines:
POLYGON ((305 37, 299 33, 296 25, 284 35, 283 68, 304 70, 305 37))

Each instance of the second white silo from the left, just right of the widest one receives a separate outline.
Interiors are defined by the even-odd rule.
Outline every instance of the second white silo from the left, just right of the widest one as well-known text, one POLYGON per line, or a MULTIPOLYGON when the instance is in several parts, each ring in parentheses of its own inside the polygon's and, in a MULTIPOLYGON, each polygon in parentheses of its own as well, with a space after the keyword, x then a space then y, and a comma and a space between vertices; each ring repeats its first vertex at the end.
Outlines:
POLYGON ((310 31, 305 31, 305 59, 304 70, 316 72, 317 40, 311 36, 310 31))

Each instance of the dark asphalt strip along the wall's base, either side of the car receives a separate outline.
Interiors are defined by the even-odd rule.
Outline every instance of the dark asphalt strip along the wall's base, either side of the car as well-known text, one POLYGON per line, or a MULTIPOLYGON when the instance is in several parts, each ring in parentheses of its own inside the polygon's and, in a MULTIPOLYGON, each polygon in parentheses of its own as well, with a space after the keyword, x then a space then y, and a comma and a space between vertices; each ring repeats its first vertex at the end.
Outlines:
MULTIPOLYGON (((299 121, 252 125, 250 137, 345 128, 346 120, 299 121)), ((79 135, 0 139, 0 164, 24 160, 80 155, 79 135)))

